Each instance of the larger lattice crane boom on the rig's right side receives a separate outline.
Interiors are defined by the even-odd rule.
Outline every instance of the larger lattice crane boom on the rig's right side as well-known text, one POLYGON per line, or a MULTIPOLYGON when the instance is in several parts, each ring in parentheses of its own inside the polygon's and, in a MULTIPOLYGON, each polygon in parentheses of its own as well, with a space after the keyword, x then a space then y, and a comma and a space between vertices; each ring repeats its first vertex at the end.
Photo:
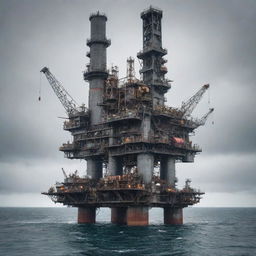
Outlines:
POLYGON ((197 104, 202 99, 202 96, 206 92, 206 90, 210 87, 209 84, 203 85, 200 90, 193 95, 187 102, 182 103, 181 112, 183 113, 183 117, 188 117, 191 115, 197 104))

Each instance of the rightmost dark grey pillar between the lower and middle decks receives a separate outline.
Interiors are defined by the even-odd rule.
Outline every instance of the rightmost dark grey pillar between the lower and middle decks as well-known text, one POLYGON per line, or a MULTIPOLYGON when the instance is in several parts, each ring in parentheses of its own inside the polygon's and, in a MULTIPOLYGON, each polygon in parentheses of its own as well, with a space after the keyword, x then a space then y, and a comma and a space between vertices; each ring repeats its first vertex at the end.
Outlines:
POLYGON ((175 173, 175 158, 171 156, 163 158, 160 164, 160 178, 167 181, 173 188, 176 182, 175 173))

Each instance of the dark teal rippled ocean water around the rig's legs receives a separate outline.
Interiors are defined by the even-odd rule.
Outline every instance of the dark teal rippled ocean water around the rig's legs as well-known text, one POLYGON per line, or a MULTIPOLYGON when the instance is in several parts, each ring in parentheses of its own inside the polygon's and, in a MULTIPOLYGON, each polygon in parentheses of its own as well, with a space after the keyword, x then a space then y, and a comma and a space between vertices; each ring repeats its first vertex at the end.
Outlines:
POLYGON ((1 256, 256 255, 256 208, 188 208, 184 225, 165 226, 162 210, 150 225, 76 224, 75 208, 0 208, 1 256))

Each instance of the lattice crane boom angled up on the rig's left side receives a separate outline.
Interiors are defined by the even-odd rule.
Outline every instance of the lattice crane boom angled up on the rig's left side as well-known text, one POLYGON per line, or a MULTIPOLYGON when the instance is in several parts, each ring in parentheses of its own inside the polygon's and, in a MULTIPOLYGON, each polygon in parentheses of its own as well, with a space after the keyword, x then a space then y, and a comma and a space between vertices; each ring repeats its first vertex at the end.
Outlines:
POLYGON ((59 98, 67 114, 70 116, 76 113, 78 104, 71 97, 71 95, 66 91, 66 89, 61 85, 61 83, 54 77, 54 75, 50 72, 49 68, 44 67, 40 72, 45 74, 49 84, 51 85, 53 91, 59 98))

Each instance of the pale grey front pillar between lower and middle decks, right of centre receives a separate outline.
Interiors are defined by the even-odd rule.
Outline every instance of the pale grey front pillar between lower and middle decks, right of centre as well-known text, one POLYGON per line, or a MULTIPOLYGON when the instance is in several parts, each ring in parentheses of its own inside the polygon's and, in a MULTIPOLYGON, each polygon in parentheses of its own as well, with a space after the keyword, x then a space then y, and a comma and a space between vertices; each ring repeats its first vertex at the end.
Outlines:
POLYGON ((137 155, 138 173, 142 175, 143 181, 148 184, 152 180, 154 171, 154 156, 149 153, 137 155))

